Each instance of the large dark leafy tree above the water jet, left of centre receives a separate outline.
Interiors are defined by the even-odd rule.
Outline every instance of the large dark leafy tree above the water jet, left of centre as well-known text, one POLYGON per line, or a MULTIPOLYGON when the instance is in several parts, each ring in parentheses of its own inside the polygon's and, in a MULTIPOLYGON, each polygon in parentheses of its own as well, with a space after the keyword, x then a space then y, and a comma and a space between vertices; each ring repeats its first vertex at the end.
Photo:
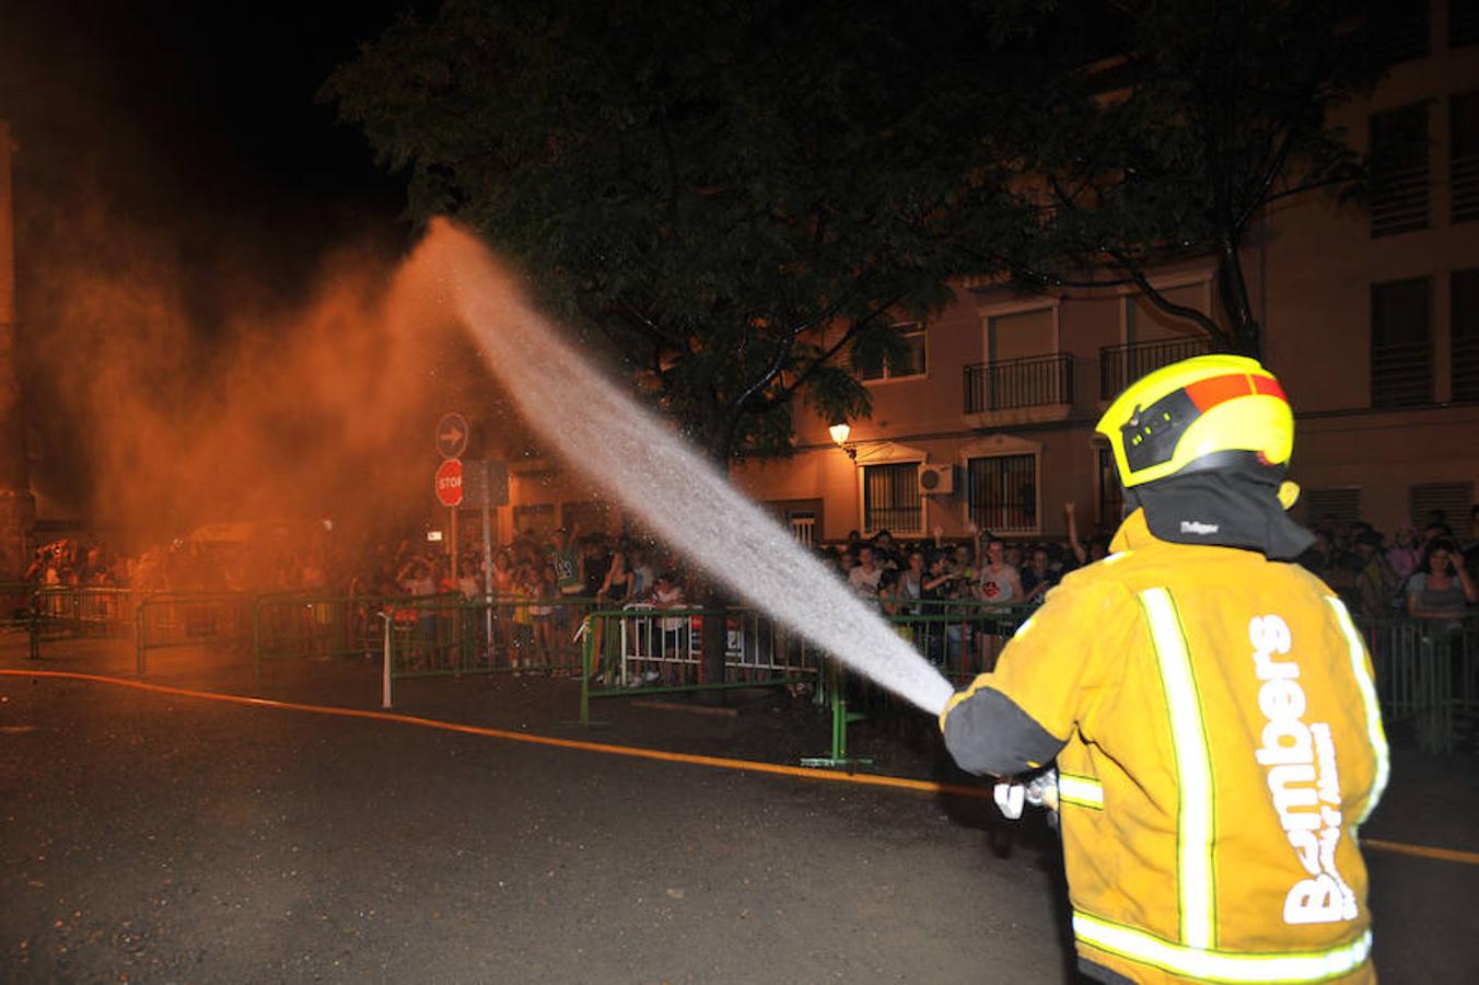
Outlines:
POLYGON ((865 416, 847 359, 902 359, 893 324, 948 299, 961 217, 997 214, 960 127, 981 101, 932 89, 932 62, 979 78, 989 24, 941 27, 887 3, 451 0, 325 98, 410 172, 419 219, 522 262, 726 463, 784 453, 802 402, 865 416))

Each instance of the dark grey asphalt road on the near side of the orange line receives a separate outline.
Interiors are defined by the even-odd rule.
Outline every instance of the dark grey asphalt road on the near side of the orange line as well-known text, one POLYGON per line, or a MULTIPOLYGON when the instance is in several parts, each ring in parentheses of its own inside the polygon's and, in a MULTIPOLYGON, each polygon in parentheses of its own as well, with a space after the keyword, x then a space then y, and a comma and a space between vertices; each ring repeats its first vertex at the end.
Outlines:
MULTIPOLYGON (((4 981, 1074 979, 979 802, 0 676, 0 805, 4 981)), ((1479 981, 1479 867, 1370 859, 1381 979, 1479 981)))

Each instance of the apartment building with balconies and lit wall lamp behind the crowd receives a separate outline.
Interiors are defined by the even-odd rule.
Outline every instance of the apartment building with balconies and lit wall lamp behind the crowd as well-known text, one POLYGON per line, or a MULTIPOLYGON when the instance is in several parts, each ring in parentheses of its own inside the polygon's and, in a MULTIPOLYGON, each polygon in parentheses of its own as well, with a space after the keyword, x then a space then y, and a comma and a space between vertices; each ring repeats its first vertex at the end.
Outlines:
MULTIPOLYGON (((1370 149, 1370 207, 1321 195, 1265 216, 1244 257, 1266 361, 1297 414, 1302 519, 1383 529, 1442 510, 1467 535, 1479 482, 1479 6, 1398 4, 1392 68, 1337 123, 1370 149)), ((1179 305, 1216 317, 1210 260, 1157 271, 1179 305)), ((1093 424, 1130 380, 1207 351, 1189 322, 1134 290, 1023 297, 961 281, 927 324, 902 325, 913 358, 864 380, 873 416, 800 419, 793 457, 734 481, 806 541, 849 531, 1012 537, 1111 531, 1121 497, 1093 424)), ((513 470, 518 529, 618 512, 550 466, 513 470)), ((507 529, 507 528, 506 528, 507 529)))

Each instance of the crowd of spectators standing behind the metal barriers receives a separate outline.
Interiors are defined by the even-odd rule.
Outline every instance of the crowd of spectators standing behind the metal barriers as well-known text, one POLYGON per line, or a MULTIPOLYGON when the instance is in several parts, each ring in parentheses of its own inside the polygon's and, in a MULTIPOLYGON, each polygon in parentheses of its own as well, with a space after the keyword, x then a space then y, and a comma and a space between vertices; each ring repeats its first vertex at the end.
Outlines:
MULTIPOLYGON (((1062 540, 1006 541, 967 524, 967 537, 898 541, 889 531, 818 547, 822 565, 881 612, 916 614, 933 602, 976 600, 992 606, 1041 603, 1065 574, 1103 558, 1108 537, 1081 540, 1066 503, 1062 540)), ((1315 544, 1299 563, 1338 592, 1365 618, 1408 615, 1457 620, 1479 605, 1479 507, 1467 535, 1455 537, 1435 513, 1421 531, 1390 537, 1367 522, 1322 518, 1315 544)), ((444 544, 401 540, 358 553, 324 529, 275 544, 176 540, 129 556, 102 541, 70 537, 38 547, 27 581, 43 586, 118 586, 149 592, 321 592, 325 596, 405 598, 484 593, 522 599, 522 617, 537 626, 562 596, 602 605, 680 606, 697 598, 692 572, 651 538, 524 531, 491 552, 485 578, 481 546, 460 546, 456 577, 444 544), (546 605, 535 605, 544 602, 546 605)))

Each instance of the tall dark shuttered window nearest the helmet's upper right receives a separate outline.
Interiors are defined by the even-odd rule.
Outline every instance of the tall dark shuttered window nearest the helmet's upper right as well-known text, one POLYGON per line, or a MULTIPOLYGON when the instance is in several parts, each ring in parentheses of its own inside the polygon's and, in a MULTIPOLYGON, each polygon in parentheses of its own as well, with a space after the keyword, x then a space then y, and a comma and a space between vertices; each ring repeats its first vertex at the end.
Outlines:
POLYGON ((1432 278, 1371 287, 1371 405, 1433 399, 1432 278))

